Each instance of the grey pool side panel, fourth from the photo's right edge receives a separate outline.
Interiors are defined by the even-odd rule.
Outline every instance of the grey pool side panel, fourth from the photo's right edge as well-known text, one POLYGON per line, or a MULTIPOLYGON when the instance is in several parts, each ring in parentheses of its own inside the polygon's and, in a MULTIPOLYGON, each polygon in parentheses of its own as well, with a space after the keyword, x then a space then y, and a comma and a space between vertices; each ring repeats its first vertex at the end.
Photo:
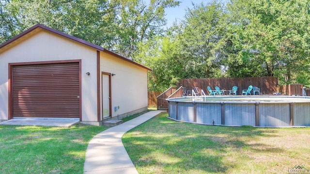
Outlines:
POLYGON ((196 103, 197 123, 221 124, 221 105, 217 103, 196 103))

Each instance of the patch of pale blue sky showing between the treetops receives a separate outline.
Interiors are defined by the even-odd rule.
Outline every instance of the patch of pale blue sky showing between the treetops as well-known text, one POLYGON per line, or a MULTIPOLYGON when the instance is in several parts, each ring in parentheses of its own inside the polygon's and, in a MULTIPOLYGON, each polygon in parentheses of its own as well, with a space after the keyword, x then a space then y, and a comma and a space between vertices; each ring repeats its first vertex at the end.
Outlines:
MULTIPOLYGON (((213 2, 214 0, 179 0, 180 5, 174 8, 166 9, 167 27, 171 27, 175 19, 179 22, 184 19, 185 11, 187 8, 193 8, 192 2, 194 4, 204 4, 213 2)), ((220 0, 225 1, 225 0, 220 0)))

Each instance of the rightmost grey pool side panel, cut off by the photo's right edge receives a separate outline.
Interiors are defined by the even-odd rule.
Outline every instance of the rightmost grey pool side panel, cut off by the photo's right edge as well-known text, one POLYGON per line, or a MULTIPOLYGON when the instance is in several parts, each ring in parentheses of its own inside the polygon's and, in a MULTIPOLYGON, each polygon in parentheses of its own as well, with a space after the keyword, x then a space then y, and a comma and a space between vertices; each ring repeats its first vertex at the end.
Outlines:
POLYGON ((294 126, 310 126, 310 103, 294 104, 294 126))

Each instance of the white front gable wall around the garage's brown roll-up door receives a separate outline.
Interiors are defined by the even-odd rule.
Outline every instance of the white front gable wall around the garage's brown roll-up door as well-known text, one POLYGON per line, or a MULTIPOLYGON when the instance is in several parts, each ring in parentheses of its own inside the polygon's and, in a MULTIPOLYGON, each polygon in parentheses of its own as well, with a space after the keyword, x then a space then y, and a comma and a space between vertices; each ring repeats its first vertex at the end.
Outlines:
POLYGON ((95 49, 47 31, 0 53, 0 120, 8 119, 8 63, 81 59, 82 121, 97 121, 96 57, 95 49))

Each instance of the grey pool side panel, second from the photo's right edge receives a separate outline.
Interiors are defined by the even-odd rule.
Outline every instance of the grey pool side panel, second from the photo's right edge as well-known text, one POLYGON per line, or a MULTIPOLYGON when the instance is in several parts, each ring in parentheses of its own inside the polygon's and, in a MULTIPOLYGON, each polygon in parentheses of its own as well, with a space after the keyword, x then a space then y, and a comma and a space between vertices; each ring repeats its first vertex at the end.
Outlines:
POLYGON ((261 127, 290 126, 289 103, 260 103, 261 127))

